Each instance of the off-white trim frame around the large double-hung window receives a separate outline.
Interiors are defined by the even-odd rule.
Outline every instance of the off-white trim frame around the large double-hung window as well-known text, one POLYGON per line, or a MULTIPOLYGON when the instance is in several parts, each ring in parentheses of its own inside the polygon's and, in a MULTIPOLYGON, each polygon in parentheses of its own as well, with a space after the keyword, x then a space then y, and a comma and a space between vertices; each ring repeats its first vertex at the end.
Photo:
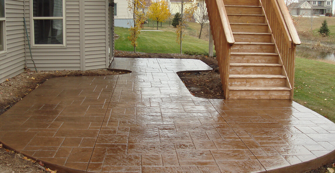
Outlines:
POLYGON ((31 42, 32 42, 32 46, 33 47, 66 47, 66 23, 65 23, 65 0, 63 0, 63 17, 34 17, 34 13, 33 13, 33 1, 30 1, 30 17, 31 17, 31 21, 30 21, 30 25, 31 25, 31 29, 30 29, 30 38, 31 38, 31 42), (35 44, 35 22, 34 20, 39 20, 39 19, 63 19, 63 44, 35 44))

